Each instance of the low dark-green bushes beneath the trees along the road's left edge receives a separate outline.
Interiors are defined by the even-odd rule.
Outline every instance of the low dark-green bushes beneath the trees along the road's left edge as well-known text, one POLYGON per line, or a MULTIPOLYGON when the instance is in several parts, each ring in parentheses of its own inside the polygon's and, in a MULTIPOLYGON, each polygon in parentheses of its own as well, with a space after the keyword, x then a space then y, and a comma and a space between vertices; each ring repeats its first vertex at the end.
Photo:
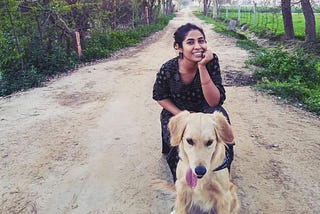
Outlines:
POLYGON ((50 41, 28 37, 22 54, 18 54, 12 51, 15 44, 10 38, 11 34, 0 30, 0 96, 40 86, 48 76, 65 72, 81 62, 109 57, 119 49, 133 46, 151 33, 161 30, 172 17, 160 16, 155 24, 141 25, 127 31, 91 32, 91 38, 84 42, 81 59, 69 47, 70 44, 66 44, 67 39, 60 40, 54 36, 50 41))

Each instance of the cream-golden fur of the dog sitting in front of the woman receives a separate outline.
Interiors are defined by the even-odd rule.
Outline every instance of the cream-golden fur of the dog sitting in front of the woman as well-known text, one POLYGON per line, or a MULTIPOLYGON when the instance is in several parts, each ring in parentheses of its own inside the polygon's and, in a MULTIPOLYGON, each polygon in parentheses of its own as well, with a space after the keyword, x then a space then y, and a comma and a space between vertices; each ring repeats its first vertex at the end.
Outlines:
MULTIPOLYGON (((233 144, 231 126, 222 113, 190 113, 183 111, 168 124, 172 146, 179 146, 177 181, 175 183, 177 214, 238 213, 236 186, 230 181, 227 168, 213 171, 225 158, 225 144, 233 144), (197 167, 206 173, 197 179, 197 185, 187 183, 187 170, 194 175, 197 167), (197 210, 197 211, 194 211, 197 210)), ((154 182, 161 185, 161 182, 154 182)), ((157 185, 156 184, 156 185, 157 185)), ((172 185, 167 185, 170 189, 172 185)))

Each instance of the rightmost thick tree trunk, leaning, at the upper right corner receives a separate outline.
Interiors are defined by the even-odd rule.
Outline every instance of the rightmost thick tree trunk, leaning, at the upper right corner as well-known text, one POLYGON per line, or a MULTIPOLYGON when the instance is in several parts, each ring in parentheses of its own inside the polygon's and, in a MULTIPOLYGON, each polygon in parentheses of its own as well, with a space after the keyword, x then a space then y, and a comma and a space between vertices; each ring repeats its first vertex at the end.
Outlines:
POLYGON ((305 19, 305 42, 316 41, 316 24, 309 0, 301 0, 302 12, 305 19))

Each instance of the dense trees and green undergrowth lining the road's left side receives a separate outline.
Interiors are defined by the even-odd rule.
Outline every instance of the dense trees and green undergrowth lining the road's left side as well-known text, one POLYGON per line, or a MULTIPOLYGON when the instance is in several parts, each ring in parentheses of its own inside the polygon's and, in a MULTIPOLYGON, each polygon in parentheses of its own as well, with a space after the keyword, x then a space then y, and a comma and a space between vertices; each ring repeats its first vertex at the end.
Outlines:
POLYGON ((0 96, 141 42, 172 19, 172 2, 163 6, 142 0, 0 3, 0 96))

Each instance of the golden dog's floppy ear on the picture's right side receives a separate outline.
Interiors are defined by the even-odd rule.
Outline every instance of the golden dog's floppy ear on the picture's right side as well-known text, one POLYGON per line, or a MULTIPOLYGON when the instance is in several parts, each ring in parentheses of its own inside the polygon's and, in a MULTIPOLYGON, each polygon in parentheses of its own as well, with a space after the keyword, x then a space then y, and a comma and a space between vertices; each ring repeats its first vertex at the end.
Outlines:
POLYGON ((213 119, 216 122, 215 129, 218 133, 218 136, 224 143, 233 144, 233 131, 225 116, 221 112, 214 112, 213 119))

